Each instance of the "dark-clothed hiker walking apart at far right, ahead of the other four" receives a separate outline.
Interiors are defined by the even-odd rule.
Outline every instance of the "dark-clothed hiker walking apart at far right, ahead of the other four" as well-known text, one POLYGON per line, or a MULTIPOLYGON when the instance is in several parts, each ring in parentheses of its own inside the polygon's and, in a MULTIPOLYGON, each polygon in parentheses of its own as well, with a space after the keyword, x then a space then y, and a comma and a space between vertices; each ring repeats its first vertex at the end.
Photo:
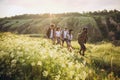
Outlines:
POLYGON ((78 43, 81 47, 81 49, 79 51, 80 55, 84 56, 84 54, 85 54, 85 51, 86 51, 85 43, 87 42, 87 40, 88 40, 87 28, 83 28, 83 32, 78 35, 78 43))

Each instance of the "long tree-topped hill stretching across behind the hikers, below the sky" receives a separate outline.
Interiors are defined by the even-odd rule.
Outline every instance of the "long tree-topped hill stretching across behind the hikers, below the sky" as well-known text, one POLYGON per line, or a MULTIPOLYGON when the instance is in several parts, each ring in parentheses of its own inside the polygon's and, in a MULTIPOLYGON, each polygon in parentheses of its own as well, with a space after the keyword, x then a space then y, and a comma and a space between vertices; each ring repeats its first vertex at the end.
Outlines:
POLYGON ((85 26, 88 27, 89 42, 111 39, 110 33, 120 35, 120 11, 103 10, 88 13, 24 14, 0 19, 0 31, 18 34, 46 34, 49 25, 74 30, 74 39, 85 26))

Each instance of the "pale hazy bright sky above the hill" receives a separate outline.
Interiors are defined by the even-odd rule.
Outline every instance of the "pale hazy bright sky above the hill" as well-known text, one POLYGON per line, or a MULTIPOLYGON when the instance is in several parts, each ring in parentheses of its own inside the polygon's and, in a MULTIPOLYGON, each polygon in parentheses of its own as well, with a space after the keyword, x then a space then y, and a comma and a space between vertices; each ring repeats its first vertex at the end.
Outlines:
POLYGON ((0 0, 0 17, 104 9, 120 10, 120 0, 0 0))

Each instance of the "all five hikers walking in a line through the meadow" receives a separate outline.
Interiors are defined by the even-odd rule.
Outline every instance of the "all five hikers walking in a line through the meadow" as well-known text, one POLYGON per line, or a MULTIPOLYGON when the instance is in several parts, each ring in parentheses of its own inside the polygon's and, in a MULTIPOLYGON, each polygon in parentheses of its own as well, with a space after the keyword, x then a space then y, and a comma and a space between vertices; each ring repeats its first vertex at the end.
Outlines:
MULTIPOLYGON (((73 39, 73 30, 64 28, 61 30, 60 27, 55 27, 54 24, 50 25, 49 29, 47 30, 47 37, 52 40, 53 44, 60 44, 64 46, 64 42, 66 42, 67 48, 69 51, 73 50, 71 45, 71 40, 73 39)), ((87 28, 83 28, 83 32, 78 35, 78 43, 80 45, 80 55, 84 56, 86 51, 85 43, 88 40, 87 38, 87 28)))

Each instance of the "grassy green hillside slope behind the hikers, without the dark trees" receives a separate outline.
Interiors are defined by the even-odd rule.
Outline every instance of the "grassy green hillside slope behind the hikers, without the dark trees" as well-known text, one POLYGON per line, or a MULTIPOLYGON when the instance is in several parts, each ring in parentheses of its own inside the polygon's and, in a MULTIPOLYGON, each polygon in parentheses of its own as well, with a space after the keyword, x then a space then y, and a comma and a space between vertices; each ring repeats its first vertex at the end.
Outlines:
POLYGON ((93 17, 84 17, 84 16, 68 16, 68 17, 57 17, 53 18, 30 18, 30 19, 3 19, 0 21, 1 30, 0 31, 10 31, 14 33, 20 34, 45 34, 46 30, 50 26, 51 23, 54 23, 56 26, 64 29, 68 27, 69 29, 73 29, 73 38, 77 39, 78 33, 82 30, 83 27, 89 27, 90 33, 88 33, 90 41, 97 41, 96 37, 101 37, 101 31, 99 30, 99 26, 97 25, 95 19, 93 17), (92 35, 95 34, 95 35, 92 35), (97 35, 96 35, 97 34, 97 35))

